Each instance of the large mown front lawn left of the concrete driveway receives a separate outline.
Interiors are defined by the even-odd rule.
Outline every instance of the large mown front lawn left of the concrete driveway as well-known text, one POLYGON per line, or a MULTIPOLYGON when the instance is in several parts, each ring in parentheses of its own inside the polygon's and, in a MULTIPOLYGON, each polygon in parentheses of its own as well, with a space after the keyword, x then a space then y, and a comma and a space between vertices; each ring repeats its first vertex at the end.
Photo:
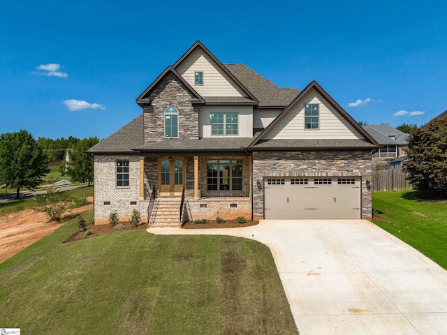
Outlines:
POLYGON ((2 327, 25 334, 298 334, 267 246, 145 230, 61 244, 75 221, 0 264, 2 327))

